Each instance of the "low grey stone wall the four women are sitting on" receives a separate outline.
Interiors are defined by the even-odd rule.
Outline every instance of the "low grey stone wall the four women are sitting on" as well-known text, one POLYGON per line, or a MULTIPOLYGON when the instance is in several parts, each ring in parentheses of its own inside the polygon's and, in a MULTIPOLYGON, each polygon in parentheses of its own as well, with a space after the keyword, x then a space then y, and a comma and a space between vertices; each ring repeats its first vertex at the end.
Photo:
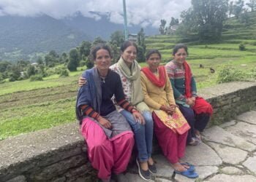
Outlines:
MULTIPOLYGON (((254 107, 255 93, 255 82, 233 82, 200 90, 199 95, 214 107, 211 124, 219 124, 254 107)), ((0 141, 0 181, 96 181, 78 124, 0 141)))

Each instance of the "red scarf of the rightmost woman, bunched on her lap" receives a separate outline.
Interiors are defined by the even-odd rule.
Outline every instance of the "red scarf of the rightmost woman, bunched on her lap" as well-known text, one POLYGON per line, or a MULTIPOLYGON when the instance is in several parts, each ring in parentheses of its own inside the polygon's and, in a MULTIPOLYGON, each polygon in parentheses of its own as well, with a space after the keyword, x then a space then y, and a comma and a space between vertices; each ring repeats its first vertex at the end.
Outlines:
MULTIPOLYGON (((185 69, 185 95, 187 98, 191 98, 192 73, 187 61, 184 61, 183 66, 185 69)), ((208 113, 211 115, 213 113, 213 108, 211 107, 211 104, 200 97, 195 98, 195 105, 192 107, 192 109, 195 111, 196 114, 208 113)))

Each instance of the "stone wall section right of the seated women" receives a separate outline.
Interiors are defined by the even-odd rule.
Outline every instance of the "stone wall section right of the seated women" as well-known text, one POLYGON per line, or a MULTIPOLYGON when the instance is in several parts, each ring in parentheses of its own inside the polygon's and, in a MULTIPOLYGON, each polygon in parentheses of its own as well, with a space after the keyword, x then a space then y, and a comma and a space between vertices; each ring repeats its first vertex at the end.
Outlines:
POLYGON ((256 83, 217 84, 200 90, 198 95, 208 100, 214 108, 214 115, 209 125, 221 124, 256 106, 256 83))

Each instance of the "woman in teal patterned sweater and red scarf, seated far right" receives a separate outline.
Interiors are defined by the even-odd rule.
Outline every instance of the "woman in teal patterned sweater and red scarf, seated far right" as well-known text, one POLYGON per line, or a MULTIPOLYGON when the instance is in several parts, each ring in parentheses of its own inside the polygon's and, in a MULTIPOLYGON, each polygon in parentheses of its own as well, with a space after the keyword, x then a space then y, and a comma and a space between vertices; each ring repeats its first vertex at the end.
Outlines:
POLYGON ((195 146, 200 142, 200 132, 206 127, 213 109, 206 100, 197 96, 195 79, 186 61, 187 55, 187 46, 177 44, 173 48, 173 60, 167 63, 165 68, 176 103, 191 127, 187 143, 195 146))

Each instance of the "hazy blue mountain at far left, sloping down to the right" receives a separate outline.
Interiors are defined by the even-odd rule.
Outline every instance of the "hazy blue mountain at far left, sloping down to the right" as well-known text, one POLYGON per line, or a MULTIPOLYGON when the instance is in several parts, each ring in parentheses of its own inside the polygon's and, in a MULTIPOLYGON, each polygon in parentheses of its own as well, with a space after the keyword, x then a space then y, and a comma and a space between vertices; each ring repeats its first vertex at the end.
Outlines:
POLYGON ((48 15, 0 17, 0 60, 30 59, 39 52, 63 52, 92 39, 48 15))

